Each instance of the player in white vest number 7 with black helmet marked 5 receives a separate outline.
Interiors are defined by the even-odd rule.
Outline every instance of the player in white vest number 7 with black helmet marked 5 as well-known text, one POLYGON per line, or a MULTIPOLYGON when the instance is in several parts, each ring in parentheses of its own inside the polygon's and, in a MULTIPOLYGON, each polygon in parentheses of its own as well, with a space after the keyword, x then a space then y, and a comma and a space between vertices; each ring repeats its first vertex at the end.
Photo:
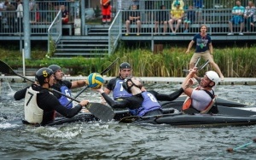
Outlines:
POLYGON ((41 68, 36 72, 36 83, 17 91, 15 100, 25 98, 24 113, 26 123, 45 125, 55 120, 55 111, 64 117, 74 117, 89 101, 82 100, 72 109, 62 106, 55 95, 49 92, 49 87, 55 81, 54 72, 49 68, 41 68))

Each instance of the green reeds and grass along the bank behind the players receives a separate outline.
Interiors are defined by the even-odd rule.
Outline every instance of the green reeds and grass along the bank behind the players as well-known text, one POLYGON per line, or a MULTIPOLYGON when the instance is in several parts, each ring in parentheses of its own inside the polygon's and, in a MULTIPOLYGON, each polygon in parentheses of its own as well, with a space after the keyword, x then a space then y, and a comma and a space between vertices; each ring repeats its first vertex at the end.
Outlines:
MULTIPOLYGON (((70 59, 46 58, 46 50, 32 49, 32 59, 26 60, 26 68, 40 68, 57 64, 62 66, 67 74, 89 75, 90 72, 101 72, 113 60, 119 57, 119 61, 108 71, 107 76, 115 76, 119 73, 119 64, 123 61, 131 63, 133 75, 140 77, 183 77, 183 69, 189 68, 189 60, 194 52, 185 54, 186 47, 166 46, 162 53, 153 54, 148 47, 122 46, 111 56, 106 57, 74 57, 70 59)), ((256 77, 255 65, 256 46, 214 48, 215 62, 224 73, 224 77, 256 77)), ((13 69, 22 67, 22 54, 19 49, 0 46, 0 58, 13 69)), ((199 66, 204 62, 201 60, 199 66)), ((208 66, 205 70, 211 70, 208 66)), ((202 73, 204 71, 201 71, 202 73)))

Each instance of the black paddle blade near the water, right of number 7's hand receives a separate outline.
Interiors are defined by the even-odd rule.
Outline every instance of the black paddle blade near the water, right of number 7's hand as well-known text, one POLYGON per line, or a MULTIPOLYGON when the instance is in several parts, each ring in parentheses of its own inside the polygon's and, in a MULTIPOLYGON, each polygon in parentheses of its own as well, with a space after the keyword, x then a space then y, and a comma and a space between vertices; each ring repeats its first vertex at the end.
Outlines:
POLYGON ((112 108, 102 105, 101 103, 89 103, 86 108, 91 112, 91 114, 101 119, 103 122, 111 121, 114 117, 112 108))

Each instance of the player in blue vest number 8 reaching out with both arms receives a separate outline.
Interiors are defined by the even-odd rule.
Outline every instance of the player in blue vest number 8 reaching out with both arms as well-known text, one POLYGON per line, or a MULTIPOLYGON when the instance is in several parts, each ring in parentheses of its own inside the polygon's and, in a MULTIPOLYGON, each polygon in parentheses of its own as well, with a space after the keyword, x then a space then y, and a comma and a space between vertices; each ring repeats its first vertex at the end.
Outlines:
POLYGON ((126 77, 123 88, 130 94, 131 97, 126 97, 123 100, 114 101, 103 89, 94 89, 102 94, 102 97, 108 102, 108 105, 113 108, 129 108, 134 112, 133 116, 154 116, 163 114, 158 100, 176 100, 177 97, 183 94, 184 87, 178 89, 172 94, 160 94, 154 90, 142 91, 143 82, 139 77, 126 77))

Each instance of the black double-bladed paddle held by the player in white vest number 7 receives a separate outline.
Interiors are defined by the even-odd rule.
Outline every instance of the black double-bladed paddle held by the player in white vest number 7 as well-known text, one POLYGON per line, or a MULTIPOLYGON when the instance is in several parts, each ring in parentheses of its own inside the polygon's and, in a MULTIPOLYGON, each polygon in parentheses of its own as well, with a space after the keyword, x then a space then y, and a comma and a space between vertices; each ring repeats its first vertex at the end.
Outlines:
MULTIPOLYGON (((34 83, 34 81, 32 79, 29 79, 27 77, 24 77, 24 76, 20 75, 19 73, 16 73, 9 65, 7 65, 2 60, 0 60, 0 71, 4 74, 15 74, 18 77, 22 77, 22 78, 26 79, 27 81, 30 81, 30 82, 34 83)), ((77 102, 80 102, 79 100, 76 100, 73 97, 68 96, 66 94, 62 94, 61 92, 59 92, 55 89, 50 89, 49 88, 49 91, 61 94, 63 96, 66 96, 70 100, 75 100, 77 102)), ((95 117, 101 119, 104 122, 108 122, 108 121, 113 119, 114 112, 113 112, 112 108, 109 107, 109 106, 105 106, 105 105, 100 104, 100 103, 89 103, 89 105, 87 105, 85 107, 90 111, 91 114, 93 114, 95 117)))

